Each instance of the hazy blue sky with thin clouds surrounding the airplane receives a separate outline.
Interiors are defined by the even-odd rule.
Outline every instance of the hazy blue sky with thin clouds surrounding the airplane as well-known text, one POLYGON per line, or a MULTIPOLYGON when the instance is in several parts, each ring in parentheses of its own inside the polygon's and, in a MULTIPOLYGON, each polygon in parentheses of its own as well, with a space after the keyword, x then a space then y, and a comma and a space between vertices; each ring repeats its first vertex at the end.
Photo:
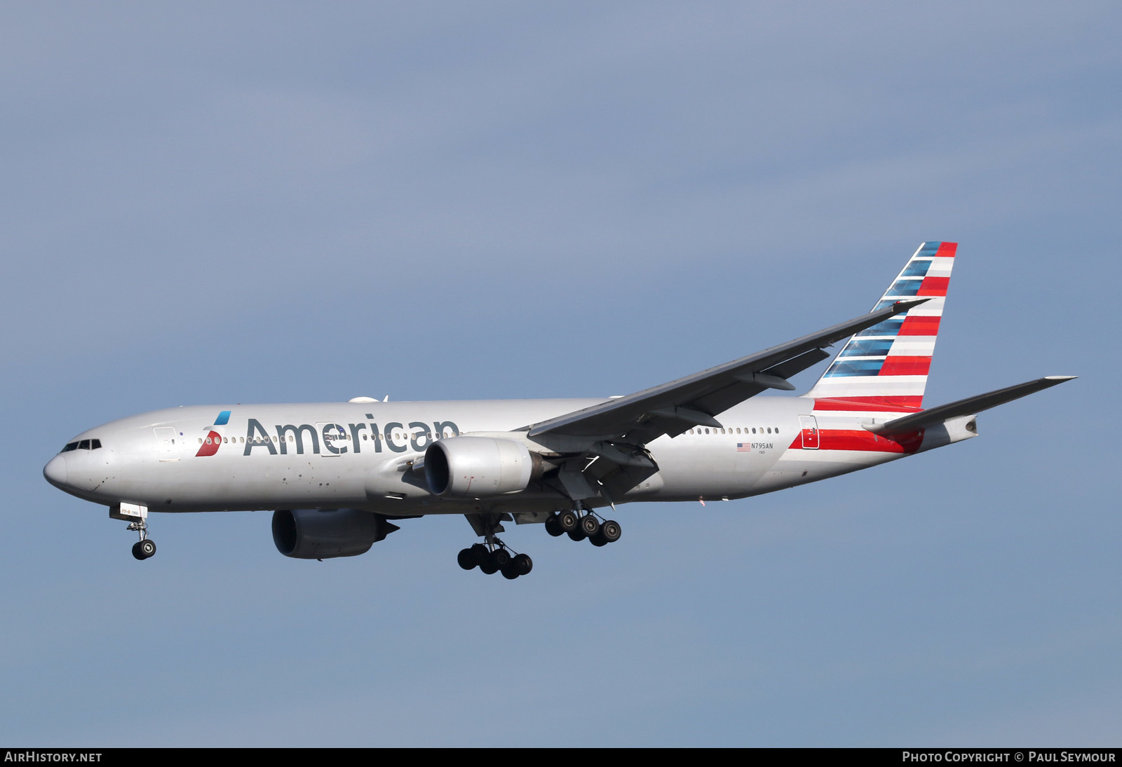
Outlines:
MULTIPOLYGON (((8 3, 0 740, 1116 745, 1116 3, 8 3), (597 549, 159 554, 43 464, 180 404, 626 394, 960 243, 981 440, 597 549), (1103 288, 1091 290, 1091 287, 1103 288)), ((809 387, 812 373, 799 379, 809 387)))

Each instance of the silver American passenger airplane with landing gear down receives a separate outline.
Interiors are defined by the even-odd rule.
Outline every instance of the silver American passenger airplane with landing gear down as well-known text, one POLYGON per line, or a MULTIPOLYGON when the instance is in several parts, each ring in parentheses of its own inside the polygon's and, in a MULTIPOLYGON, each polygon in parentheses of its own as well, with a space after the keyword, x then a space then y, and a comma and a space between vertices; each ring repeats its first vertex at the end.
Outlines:
POLYGON ((871 312, 623 397, 177 407, 66 443, 50 484, 109 507, 156 553, 149 511, 272 510, 278 552, 355 556, 395 521, 463 515, 482 542, 465 570, 533 569, 503 523, 605 546, 629 501, 735 500, 977 436, 978 413, 1075 376, 1048 376, 925 409, 954 242, 923 242, 871 312), (794 375, 830 357, 801 396, 794 375))

